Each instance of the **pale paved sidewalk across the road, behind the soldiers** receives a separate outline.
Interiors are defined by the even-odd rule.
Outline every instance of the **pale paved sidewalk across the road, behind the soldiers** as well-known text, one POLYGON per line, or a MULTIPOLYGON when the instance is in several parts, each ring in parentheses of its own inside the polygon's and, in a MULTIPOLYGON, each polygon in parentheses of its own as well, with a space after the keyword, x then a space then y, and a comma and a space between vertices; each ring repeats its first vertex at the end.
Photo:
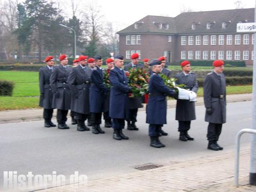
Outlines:
MULTIPOLYGON (((236 94, 227 95, 227 102, 240 102, 250 101, 252 94, 236 94)), ((168 108, 175 108, 176 100, 168 100, 168 108)), ((196 105, 203 105, 203 97, 197 99, 196 105)), ((139 109, 139 111, 145 111, 145 107, 139 109)), ((56 110, 54 110, 54 118, 56 116, 56 110)), ((42 109, 28 109, 28 110, 9 110, 0 111, 0 123, 12 123, 23 121, 37 121, 42 120, 42 109)))

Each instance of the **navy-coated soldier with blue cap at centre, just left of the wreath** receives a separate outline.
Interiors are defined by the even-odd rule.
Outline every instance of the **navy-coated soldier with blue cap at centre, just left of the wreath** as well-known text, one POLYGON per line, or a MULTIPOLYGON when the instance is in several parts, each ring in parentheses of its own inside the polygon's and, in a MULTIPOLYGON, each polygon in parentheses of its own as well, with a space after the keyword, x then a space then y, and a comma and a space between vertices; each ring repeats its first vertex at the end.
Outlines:
POLYGON ((113 138, 116 140, 129 139, 122 133, 124 120, 129 116, 129 96, 132 89, 127 86, 127 78, 122 69, 123 56, 114 56, 115 68, 110 71, 110 117, 114 129, 113 138))

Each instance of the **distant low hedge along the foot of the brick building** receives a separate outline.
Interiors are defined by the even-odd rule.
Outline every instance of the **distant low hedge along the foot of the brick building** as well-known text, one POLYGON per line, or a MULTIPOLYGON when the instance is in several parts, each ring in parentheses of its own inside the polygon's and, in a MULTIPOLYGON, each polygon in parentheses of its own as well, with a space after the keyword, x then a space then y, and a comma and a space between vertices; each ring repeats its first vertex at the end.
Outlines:
MULTIPOLYGON (((184 60, 180 60, 180 62, 172 62, 170 66, 179 66, 180 63, 184 60)), ((191 66, 212 66, 213 60, 189 60, 191 66)), ((246 67, 245 61, 229 61, 223 60, 225 65, 233 66, 233 67, 246 67)))

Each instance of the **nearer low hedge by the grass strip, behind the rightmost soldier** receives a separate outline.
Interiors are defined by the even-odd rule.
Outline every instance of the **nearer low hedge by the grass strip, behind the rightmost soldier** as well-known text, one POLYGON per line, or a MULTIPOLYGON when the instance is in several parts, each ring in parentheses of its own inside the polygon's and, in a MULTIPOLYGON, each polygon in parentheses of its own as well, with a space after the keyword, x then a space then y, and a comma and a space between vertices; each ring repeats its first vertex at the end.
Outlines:
MULTIPOLYGON (((203 87, 204 78, 198 78, 198 86, 203 87)), ((227 86, 241 86, 244 84, 252 84, 252 77, 226 77, 227 86)))

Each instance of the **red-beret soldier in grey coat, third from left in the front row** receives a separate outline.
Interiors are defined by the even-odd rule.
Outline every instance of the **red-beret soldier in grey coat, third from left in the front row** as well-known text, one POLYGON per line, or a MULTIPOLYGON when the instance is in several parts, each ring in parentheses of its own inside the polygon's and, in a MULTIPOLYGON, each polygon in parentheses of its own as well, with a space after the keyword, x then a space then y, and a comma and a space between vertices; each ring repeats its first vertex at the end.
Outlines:
POLYGON ((72 90, 72 105, 71 110, 75 112, 77 121, 77 131, 90 131, 84 124, 90 113, 89 92, 91 86, 91 69, 86 67, 87 56, 79 57, 80 65, 73 68, 70 73, 68 82, 72 90))

